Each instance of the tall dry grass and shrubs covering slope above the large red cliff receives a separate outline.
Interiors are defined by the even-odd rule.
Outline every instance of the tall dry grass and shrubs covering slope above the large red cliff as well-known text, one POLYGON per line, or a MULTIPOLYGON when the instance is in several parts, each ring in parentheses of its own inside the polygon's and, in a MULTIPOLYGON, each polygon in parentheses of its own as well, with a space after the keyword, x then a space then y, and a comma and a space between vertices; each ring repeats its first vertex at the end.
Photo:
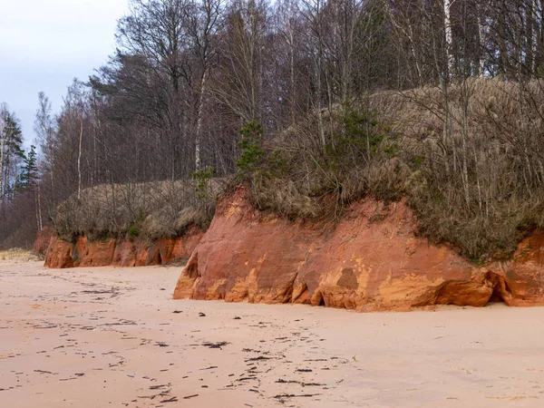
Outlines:
MULTIPOLYGON (((267 146, 253 178, 259 207, 338 219, 365 194, 408 196, 423 236, 475 262, 510 257, 524 234, 544 227, 544 82, 469 79, 447 92, 381 92, 354 106, 377 115, 359 135, 383 136, 372 154, 351 139, 331 154, 309 118, 267 146), (270 171, 278 159, 287 165, 270 171)), ((343 134, 336 110, 324 120, 328 143, 343 134)))

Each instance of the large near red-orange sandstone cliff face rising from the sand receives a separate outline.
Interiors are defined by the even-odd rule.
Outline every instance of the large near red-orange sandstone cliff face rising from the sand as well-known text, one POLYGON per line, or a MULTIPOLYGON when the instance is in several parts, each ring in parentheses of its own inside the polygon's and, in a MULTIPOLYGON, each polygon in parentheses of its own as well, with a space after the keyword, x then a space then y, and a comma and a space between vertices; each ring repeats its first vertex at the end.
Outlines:
POLYGON ((291 222, 253 209, 245 189, 219 203, 174 298, 300 303, 374 310, 452 304, 544 304, 544 234, 508 263, 473 267, 413 234, 401 202, 356 202, 339 225, 291 222))

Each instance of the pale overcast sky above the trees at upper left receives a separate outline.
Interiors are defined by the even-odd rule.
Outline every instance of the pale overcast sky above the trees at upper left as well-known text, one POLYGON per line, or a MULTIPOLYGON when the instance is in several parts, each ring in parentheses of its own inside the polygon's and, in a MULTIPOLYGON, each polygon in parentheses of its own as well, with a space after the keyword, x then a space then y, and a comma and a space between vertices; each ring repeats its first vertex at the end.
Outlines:
POLYGON ((86 81, 107 62, 127 12, 128 0, 0 0, 0 102, 21 120, 26 146, 38 92, 58 112, 73 78, 86 81))

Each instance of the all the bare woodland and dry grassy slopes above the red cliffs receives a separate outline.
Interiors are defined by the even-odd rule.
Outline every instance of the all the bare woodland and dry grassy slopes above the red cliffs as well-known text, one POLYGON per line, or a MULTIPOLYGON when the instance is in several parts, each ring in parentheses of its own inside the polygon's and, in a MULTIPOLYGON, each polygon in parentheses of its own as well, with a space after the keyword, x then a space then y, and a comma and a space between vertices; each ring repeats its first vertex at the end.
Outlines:
POLYGON ((237 183, 290 219, 407 199, 474 262, 544 226, 544 1, 129 4, 60 112, 38 95, 36 148, 0 108, 1 247, 174 236, 237 183))

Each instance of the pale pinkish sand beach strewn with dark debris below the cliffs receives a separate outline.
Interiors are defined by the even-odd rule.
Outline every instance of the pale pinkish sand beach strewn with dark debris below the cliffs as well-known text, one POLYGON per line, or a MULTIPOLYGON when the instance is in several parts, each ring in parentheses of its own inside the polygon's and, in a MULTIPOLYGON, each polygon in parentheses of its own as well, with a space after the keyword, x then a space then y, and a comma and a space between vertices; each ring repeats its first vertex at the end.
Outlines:
POLYGON ((0 263, 0 405, 544 406, 544 308, 171 300, 179 274, 0 263))

